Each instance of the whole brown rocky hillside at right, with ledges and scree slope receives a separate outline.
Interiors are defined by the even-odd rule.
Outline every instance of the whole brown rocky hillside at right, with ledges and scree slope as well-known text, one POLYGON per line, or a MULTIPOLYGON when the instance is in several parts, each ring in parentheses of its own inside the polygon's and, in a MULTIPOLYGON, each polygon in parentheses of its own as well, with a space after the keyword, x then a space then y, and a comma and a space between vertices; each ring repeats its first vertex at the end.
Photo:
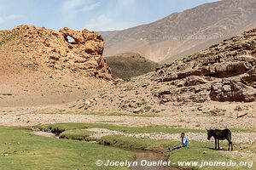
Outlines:
POLYGON ((78 105, 87 110, 143 113, 170 111, 172 105, 211 102, 240 105, 255 104, 255 100, 256 29, 253 29, 192 56, 160 65, 119 88, 96 95, 90 99, 90 105, 84 105, 83 101, 78 105))

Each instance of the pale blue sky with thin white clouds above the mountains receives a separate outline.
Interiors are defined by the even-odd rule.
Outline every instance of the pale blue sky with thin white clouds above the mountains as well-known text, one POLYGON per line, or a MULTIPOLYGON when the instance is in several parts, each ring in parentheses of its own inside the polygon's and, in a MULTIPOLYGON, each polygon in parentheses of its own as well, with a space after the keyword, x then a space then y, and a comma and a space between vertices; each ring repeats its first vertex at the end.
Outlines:
POLYGON ((19 25, 123 30, 217 0, 0 0, 0 30, 19 25))

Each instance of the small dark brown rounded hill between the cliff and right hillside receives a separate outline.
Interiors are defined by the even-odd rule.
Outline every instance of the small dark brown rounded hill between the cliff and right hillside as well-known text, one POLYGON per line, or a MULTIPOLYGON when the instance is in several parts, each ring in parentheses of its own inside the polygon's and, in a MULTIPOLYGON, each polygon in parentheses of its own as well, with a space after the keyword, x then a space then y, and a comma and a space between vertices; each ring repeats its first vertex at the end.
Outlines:
POLYGON ((129 81, 131 77, 137 77, 147 72, 154 71, 157 63, 145 59, 137 53, 117 54, 105 57, 108 66, 113 72, 114 78, 129 81))

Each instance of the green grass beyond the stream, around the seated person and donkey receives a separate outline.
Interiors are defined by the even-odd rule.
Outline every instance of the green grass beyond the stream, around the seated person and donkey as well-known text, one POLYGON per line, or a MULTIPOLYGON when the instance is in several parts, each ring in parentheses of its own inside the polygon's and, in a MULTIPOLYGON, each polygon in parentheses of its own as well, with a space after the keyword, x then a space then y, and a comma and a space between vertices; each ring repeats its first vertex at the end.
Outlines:
MULTIPOLYGON (((62 129, 65 130, 63 133, 67 132, 66 137, 68 139, 75 139, 73 138, 74 134, 72 133, 75 129, 76 131, 85 131, 86 128, 89 127, 103 127, 108 128, 110 130, 122 131, 126 133, 181 133, 181 132, 194 132, 198 133, 201 130, 195 129, 184 129, 184 128, 177 128, 177 127, 161 127, 161 126, 150 126, 150 127, 125 127, 125 126, 117 126, 111 124, 101 124, 101 123, 94 123, 94 124, 86 124, 86 123, 56 123, 51 125, 41 125, 41 129, 44 130, 53 130, 53 129, 62 129)), ((245 132, 245 129, 235 129, 236 132, 245 132)), ((249 131, 253 132, 253 131, 249 131)), ((89 132, 90 133, 90 132, 89 132)), ((62 133, 61 133, 62 134, 62 133)), ((76 134, 75 134, 76 135, 76 134)), ((76 136, 76 138, 79 138, 76 136)), ((81 139, 86 138, 86 135, 81 134, 81 139)), ((88 139, 87 139, 88 140, 88 139)), ((150 150, 153 152, 162 152, 169 157, 169 160, 173 162, 177 161, 244 161, 241 157, 228 157, 224 155, 224 151, 222 150, 213 150, 214 144, 213 142, 202 143, 196 141, 189 142, 189 148, 183 148, 180 150, 174 150, 172 154, 168 152, 167 148, 176 145, 177 141, 166 140, 166 139, 137 139, 134 137, 125 137, 122 135, 109 135, 104 136, 101 139, 97 139, 100 144, 105 145, 112 145, 115 147, 123 148, 126 150, 150 150)), ((227 149, 228 144, 222 145, 225 149, 227 149)), ((248 150, 253 150, 253 146, 251 146, 248 150)), ((240 150, 239 146, 235 146, 234 150, 240 150)), ((229 151, 226 151, 229 152, 229 151)), ((189 167, 191 169, 191 167, 189 167)), ((212 169, 213 167, 202 167, 200 169, 212 169)), ((224 169, 248 169, 248 167, 214 167, 217 170, 224 170, 224 169)), ((252 168, 253 169, 253 168, 252 168)))

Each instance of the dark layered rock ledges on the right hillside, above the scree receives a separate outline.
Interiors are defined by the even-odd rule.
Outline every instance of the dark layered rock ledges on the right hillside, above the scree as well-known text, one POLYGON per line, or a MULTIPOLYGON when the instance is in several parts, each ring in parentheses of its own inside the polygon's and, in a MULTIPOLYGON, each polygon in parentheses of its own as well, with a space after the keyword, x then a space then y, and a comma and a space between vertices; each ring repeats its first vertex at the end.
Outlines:
MULTIPOLYGON (((151 80, 170 83, 177 88, 189 86, 191 88, 186 94, 190 96, 197 94, 197 90, 192 89, 195 87, 207 89, 204 94, 209 97, 208 99, 216 101, 254 101, 256 100, 255 37, 256 29, 246 31, 198 54, 161 65, 156 69, 151 80)), ((172 96, 180 98, 182 96, 180 90, 174 90, 172 96)), ((195 101, 195 99, 189 100, 195 101)))

